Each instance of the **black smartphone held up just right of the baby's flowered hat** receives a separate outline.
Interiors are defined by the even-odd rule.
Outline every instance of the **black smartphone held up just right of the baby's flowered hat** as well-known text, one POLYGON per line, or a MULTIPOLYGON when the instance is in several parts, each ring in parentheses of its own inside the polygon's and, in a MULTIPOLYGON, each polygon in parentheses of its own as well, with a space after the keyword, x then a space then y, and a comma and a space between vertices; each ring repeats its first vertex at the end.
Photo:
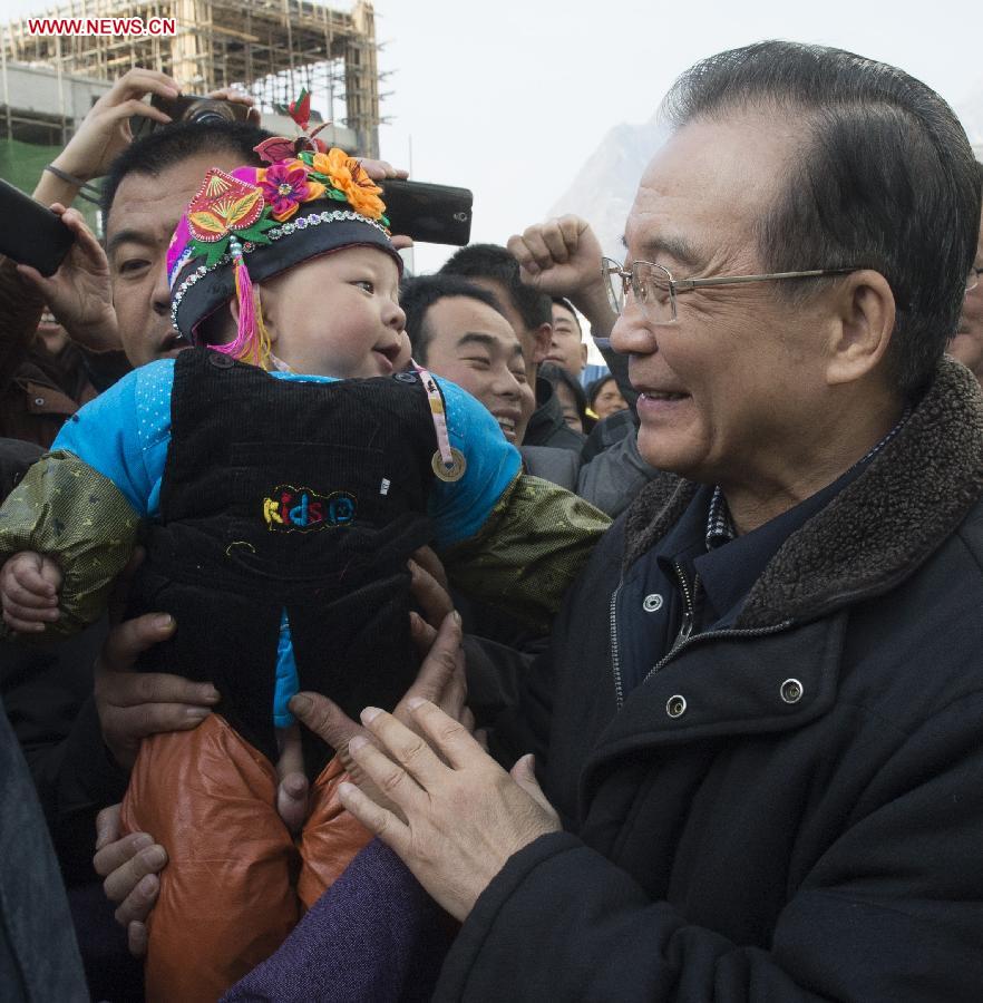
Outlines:
POLYGON ((470 240, 475 196, 467 188, 399 178, 386 178, 378 184, 382 187, 382 201, 392 233, 425 244, 455 244, 459 247, 470 240))

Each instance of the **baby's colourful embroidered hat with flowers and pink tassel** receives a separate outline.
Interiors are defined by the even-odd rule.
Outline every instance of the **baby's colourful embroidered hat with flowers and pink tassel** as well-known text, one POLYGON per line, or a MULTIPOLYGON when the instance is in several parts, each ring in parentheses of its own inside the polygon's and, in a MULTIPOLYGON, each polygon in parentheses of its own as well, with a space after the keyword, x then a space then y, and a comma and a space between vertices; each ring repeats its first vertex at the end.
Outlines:
POLYGON ((236 298, 236 337, 212 348, 262 366, 270 341, 253 283, 343 247, 379 247, 400 274, 402 260, 382 189, 358 160, 306 135, 266 139, 256 153, 266 167, 207 172, 171 241, 167 280, 172 322, 195 343, 202 321, 236 298))

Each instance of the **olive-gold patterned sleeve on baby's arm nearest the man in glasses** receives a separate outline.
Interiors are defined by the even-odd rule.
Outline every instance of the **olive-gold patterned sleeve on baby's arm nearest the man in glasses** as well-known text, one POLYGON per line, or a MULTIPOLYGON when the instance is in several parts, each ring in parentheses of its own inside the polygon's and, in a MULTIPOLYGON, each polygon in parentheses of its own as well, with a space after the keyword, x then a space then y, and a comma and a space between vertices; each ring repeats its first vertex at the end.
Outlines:
POLYGON ((610 525, 583 498, 519 474, 481 528, 440 556, 457 587, 545 633, 610 525))

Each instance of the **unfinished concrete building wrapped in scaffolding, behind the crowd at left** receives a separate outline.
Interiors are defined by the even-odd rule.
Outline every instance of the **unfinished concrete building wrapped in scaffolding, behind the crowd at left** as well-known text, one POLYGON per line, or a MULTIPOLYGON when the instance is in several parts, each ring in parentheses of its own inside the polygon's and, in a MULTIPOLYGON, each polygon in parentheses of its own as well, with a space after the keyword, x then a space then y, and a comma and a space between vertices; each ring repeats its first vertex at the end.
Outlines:
POLYGON ((335 124, 325 140, 379 156, 369 2, 345 12, 313 0, 72 0, 39 17, 173 19, 175 33, 45 36, 31 33, 28 18, 0 25, 0 135, 18 148, 64 146, 113 81, 146 67, 171 75, 186 94, 237 86, 274 130, 275 114, 305 87, 314 111, 335 124))

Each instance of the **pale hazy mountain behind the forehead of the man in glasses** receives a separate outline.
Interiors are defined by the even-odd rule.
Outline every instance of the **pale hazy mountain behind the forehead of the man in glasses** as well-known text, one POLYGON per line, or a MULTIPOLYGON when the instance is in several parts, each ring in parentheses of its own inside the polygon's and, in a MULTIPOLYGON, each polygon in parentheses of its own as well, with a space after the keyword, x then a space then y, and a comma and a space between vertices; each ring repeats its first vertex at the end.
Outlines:
MULTIPOLYGON (((983 160, 983 80, 954 109, 966 129, 977 159, 983 160)), ((645 165, 665 142, 658 115, 642 125, 619 125, 601 140, 570 188, 549 208, 547 217, 574 213, 583 216, 601 241, 601 249, 621 260, 621 237, 645 165)))

